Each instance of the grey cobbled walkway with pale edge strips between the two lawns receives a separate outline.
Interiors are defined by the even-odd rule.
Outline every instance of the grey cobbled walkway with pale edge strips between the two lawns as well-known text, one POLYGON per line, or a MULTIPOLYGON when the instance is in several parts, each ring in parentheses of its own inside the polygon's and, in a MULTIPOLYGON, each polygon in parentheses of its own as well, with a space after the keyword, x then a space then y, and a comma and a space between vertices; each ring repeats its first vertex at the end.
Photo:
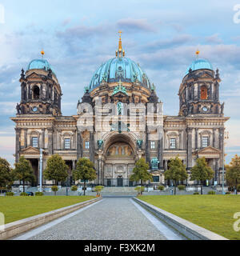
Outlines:
POLYGON ((22 234, 30 240, 182 239, 131 198, 103 198, 86 208, 22 234))

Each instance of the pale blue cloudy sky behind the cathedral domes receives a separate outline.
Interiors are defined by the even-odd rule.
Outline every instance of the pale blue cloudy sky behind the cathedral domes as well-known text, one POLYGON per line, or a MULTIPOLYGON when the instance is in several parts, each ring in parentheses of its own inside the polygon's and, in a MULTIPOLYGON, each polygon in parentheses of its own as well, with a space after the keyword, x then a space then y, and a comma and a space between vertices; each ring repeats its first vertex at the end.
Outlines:
POLYGON ((164 114, 178 115, 178 89, 200 50, 219 69, 229 139, 226 163, 240 154, 240 0, 0 0, 0 157, 14 163, 15 106, 20 73, 45 58, 62 87, 62 114, 77 113, 94 71, 118 47, 156 86, 164 114))

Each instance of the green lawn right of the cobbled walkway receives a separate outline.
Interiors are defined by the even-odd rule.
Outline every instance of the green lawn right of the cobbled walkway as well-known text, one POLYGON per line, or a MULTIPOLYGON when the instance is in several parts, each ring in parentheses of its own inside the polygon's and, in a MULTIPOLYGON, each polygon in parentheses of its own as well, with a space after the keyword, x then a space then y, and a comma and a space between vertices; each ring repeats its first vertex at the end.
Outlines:
POLYGON ((240 231, 233 229, 234 213, 240 212, 239 195, 150 195, 139 199, 225 238, 240 240, 240 231))

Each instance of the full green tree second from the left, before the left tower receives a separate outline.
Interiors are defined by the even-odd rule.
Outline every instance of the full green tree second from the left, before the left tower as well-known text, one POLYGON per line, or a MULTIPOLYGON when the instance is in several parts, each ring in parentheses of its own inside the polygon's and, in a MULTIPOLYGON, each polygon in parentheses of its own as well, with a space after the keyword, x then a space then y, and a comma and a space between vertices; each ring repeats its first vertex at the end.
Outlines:
POLYGON ((34 170, 28 160, 23 156, 19 158, 19 162, 14 164, 14 179, 23 182, 23 192, 25 192, 25 182, 34 182, 34 170))

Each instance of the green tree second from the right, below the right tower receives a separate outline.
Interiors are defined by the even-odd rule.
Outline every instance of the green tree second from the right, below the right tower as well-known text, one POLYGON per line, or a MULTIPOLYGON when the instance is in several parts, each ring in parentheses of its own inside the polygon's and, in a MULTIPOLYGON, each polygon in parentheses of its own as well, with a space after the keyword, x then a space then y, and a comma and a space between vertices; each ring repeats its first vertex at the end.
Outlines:
POLYGON ((202 183, 207 179, 214 178, 214 170, 210 166, 207 166, 205 158, 198 158, 195 166, 191 169, 191 181, 198 181, 201 185, 202 194, 202 183))

